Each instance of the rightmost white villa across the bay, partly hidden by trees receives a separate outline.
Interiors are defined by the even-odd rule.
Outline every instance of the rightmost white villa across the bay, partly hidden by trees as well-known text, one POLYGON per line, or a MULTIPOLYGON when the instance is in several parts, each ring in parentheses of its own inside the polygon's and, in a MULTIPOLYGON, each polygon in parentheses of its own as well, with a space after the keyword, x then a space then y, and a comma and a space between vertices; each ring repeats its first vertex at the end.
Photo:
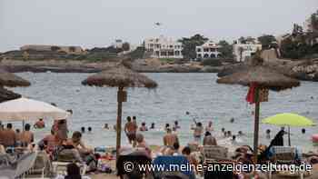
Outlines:
POLYGON ((254 55, 257 50, 262 50, 262 45, 257 40, 244 44, 238 40, 233 45, 233 54, 236 62, 245 61, 246 58, 254 55))

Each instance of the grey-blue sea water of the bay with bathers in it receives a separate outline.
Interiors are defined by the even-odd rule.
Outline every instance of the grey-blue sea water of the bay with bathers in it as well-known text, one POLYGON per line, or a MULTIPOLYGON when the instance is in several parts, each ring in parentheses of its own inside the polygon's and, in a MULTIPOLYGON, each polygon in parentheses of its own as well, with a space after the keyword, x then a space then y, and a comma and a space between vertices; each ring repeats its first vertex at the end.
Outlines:
MULTIPOLYGON (((19 73, 31 82, 29 87, 13 88, 16 93, 36 100, 55 103, 63 109, 72 109, 74 114, 68 119, 70 133, 80 130, 82 126, 93 128, 92 134, 84 134, 84 143, 93 146, 114 146, 116 134, 113 125, 116 120, 117 89, 114 87, 92 87, 81 82, 92 74, 55 74, 55 73, 19 73), (104 124, 110 130, 104 130, 104 124)), ((216 74, 145 74, 158 83, 155 90, 130 88, 127 102, 123 105, 123 126, 125 117, 137 116, 139 124, 145 122, 148 127, 155 123, 155 130, 143 132, 148 144, 163 144, 164 124, 172 125, 175 120, 181 125, 177 131, 181 144, 193 141, 191 125, 209 121, 214 123, 214 135, 219 144, 234 146, 253 145, 253 105, 245 102, 247 87, 241 85, 218 85, 216 74), (185 112, 190 112, 186 115, 185 112), (230 119, 234 117, 234 123, 230 119), (237 134, 238 142, 224 139, 221 128, 237 134)), ((261 104, 261 119, 278 113, 302 114, 318 123, 318 83, 302 82, 300 87, 283 92, 270 92, 269 102, 261 104)), ((45 119, 48 127, 35 130, 37 140, 49 134, 51 119, 45 119)), ((29 123, 34 123, 29 121, 29 123)), ((15 123, 21 127, 21 123, 15 123)), ((265 138, 266 129, 271 130, 273 138, 280 127, 260 124, 260 144, 269 144, 265 138)), ((311 141, 312 134, 318 134, 317 126, 306 127, 306 134, 301 127, 291 128, 292 145, 304 151, 315 150, 311 141)), ((87 129, 86 129, 87 131, 87 129)), ((122 134, 123 144, 127 139, 122 134)), ((287 144, 287 137, 284 143, 287 144)))

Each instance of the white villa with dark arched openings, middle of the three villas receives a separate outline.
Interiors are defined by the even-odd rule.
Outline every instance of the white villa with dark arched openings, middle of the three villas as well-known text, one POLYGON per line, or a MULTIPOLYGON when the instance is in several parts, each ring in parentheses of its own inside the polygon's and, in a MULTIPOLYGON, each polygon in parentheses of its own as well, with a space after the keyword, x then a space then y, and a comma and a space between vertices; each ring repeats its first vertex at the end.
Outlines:
POLYGON ((221 55, 221 52, 219 52, 221 47, 221 45, 217 45, 211 40, 204 43, 204 45, 195 46, 196 58, 217 58, 221 55))

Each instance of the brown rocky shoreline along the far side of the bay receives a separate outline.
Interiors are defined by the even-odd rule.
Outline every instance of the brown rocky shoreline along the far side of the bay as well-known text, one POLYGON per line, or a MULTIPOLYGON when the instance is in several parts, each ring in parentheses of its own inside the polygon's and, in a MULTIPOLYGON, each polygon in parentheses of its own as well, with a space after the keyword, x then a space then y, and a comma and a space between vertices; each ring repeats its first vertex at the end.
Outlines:
MULTIPOLYGON (((83 61, 16 61, 3 60, 0 65, 12 73, 97 73, 106 68, 117 65, 118 62, 83 62, 83 61)), ((200 63, 168 64, 158 59, 137 59, 131 62, 132 68, 140 73, 218 73, 218 76, 232 74, 247 65, 224 64, 220 66, 204 66, 200 63)), ((318 82, 318 59, 313 60, 287 60, 266 59, 264 65, 273 68, 284 75, 294 78, 318 82)))

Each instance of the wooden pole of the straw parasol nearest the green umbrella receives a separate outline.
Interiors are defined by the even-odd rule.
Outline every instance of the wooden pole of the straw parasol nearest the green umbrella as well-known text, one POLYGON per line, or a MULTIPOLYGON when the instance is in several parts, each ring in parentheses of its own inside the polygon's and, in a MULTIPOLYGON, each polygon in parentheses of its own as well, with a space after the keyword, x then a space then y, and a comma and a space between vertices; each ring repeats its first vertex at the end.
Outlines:
POLYGON ((254 163, 257 164, 257 151, 258 151, 258 132, 259 132, 259 121, 260 121, 260 88, 255 87, 255 121, 254 121, 254 163))

